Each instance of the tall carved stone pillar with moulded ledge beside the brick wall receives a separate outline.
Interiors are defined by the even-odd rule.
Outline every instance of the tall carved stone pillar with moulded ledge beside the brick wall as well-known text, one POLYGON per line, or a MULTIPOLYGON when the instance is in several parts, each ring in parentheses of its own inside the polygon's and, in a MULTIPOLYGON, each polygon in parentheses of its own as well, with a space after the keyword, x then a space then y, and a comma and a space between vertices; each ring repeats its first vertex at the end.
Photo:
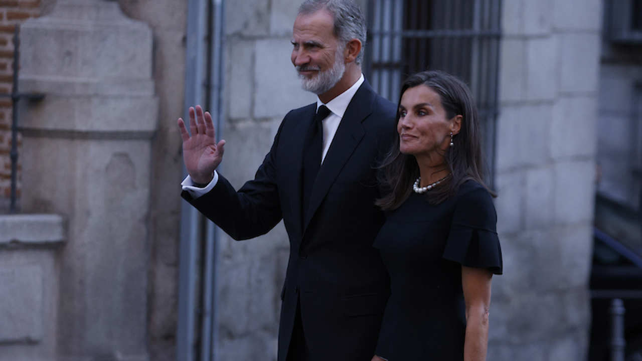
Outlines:
POLYGON ((68 224, 57 358, 148 360, 152 31, 116 2, 58 0, 21 30, 22 209, 68 224))

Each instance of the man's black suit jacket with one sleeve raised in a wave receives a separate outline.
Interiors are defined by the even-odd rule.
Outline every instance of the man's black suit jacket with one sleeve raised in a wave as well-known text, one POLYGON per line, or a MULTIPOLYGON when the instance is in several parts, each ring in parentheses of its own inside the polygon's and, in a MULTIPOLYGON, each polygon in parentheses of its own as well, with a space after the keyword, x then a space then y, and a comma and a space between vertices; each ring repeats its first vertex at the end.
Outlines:
POLYGON ((395 135, 395 108, 363 82, 325 155, 307 218, 302 153, 316 104, 285 116, 254 180, 241 189, 219 175, 206 195, 182 194, 235 240, 265 234, 283 219, 290 260, 281 292, 279 361, 286 360, 297 302, 313 360, 369 361, 374 355, 390 293, 388 274, 372 247, 383 224, 374 206, 376 166, 395 135))

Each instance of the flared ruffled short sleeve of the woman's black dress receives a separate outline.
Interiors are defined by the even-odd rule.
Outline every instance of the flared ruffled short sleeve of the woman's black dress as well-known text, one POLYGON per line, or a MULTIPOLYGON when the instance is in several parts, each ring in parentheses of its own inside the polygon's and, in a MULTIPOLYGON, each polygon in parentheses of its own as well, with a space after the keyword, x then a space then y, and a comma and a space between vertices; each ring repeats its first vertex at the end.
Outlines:
POLYGON ((497 214, 486 189, 475 188, 457 195, 453 224, 442 257, 466 267, 502 273, 497 214))

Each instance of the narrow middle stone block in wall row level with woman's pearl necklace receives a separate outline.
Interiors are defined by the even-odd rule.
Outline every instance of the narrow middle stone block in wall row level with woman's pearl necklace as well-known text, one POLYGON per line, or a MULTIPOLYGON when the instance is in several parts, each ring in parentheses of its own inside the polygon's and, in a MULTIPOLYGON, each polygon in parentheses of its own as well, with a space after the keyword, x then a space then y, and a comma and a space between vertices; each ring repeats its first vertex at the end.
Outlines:
POLYGON ((526 170, 526 229, 549 227, 554 223, 554 175, 552 166, 526 170))

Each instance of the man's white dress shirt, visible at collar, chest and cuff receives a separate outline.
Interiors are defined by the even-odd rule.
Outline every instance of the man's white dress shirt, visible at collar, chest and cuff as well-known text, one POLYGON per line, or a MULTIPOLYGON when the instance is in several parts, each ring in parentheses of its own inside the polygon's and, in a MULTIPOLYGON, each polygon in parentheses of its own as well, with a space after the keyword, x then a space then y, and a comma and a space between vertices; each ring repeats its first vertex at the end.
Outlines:
MULTIPOLYGON (((322 125, 323 125, 323 152, 321 155, 321 163, 323 163, 325 159, 325 154, 327 154, 327 150, 330 148, 330 145, 332 143, 332 140, 334 139, 334 134, 336 134, 337 128, 339 128, 339 123, 341 123, 341 119, 343 118, 343 114, 345 113, 345 110, 348 108, 348 105, 350 101, 352 100, 352 97, 354 97, 354 94, 357 92, 361 84, 363 84, 363 74, 359 77, 359 80, 356 81, 356 83, 352 84, 351 87, 347 89, 347 91, 342 92, 338 96, 336 96, 333 100, 328 101, 327 104, 324 104, 317 96, 317 109, 321 105, 325 105, 327 109, 330 110, 330 114, 328 114, 325 119, 322 120, 322 125)), ((183 187, 184 191, 187 191, 192 198, 198 198, 205 193, 211 191, 214 186, 216 186, 216 182, 218 182, 218 173, 216 170, 214 171, 214 178, 205 186, 204 188, 198 188, 194 186, 194 182, 192 182, 192 179, 187 175, 187 177, 183 180, 183 182, 180 184, 183 187)))

